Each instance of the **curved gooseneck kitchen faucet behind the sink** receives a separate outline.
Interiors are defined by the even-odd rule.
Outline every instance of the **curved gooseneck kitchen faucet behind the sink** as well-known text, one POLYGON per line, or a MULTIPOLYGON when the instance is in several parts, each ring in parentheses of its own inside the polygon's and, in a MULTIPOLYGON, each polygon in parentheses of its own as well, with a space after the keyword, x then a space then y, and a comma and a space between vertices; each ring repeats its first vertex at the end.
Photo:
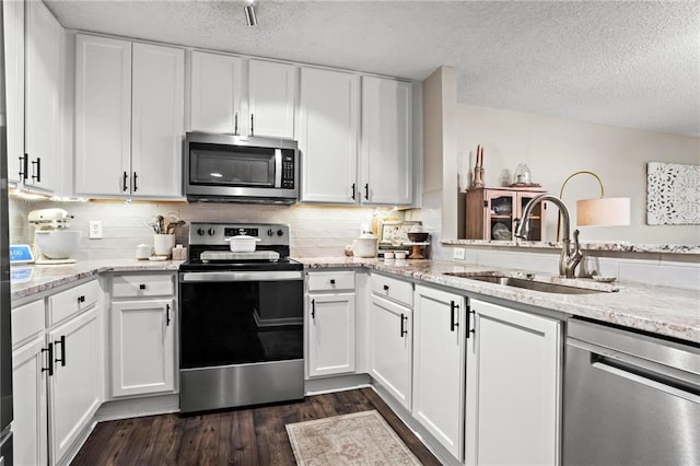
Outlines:
POLYGON ((567 209, 567 206, 557 196, 542 194, 527 202, 525 210, 523 210, 523 218, 517 222, 517 226, 515 228, 515 236, 522 240, 527 240, 527 233, 529 232, 529 214, 533 212, 535 206, 546 200, 555 203, 559 208, 561 217, 563 218, 561 254, 559 256, 559 276, 573 278, 576 266, 581 263, 581 259, 583 259, 583 253, 579 248, 579 230, 573 231, 572 245, 571 240, 569 238, 569 232, 571 231, 571 217, 569 215, 569 209, 567 209))

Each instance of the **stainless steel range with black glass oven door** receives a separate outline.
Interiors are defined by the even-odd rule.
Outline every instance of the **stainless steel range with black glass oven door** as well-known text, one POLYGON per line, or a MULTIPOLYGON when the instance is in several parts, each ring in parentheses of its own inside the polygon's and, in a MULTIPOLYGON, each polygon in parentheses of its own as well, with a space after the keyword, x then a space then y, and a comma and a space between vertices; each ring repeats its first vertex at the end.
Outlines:
POLYGON ((179 267, 180 412, 304 397, 303 266, 289 226, 198 223, 179 267), (226 238, 259 238, 231 253, 226 238))

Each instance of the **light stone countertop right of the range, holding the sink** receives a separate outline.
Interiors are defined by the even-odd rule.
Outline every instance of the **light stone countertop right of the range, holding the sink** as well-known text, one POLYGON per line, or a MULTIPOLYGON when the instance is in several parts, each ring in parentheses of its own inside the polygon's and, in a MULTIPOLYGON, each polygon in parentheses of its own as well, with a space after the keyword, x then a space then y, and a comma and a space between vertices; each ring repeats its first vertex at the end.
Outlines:
MULTIPOLYGON (((642 283, 598 283, 586 279, 561 279, 536 273, 535 279, 553 283, 573 282, 585 288, 610 289, 616 292, 594 294, 558 294, 530 291, 502 284, 445 276, 445 272, 500 271, 517 273, 514 269, 470 266, 433 260, 382 260, 345 257, 298 258, 306 269, 365 267, 425 283, 441 284, 482 296, 493 296, 618 324, 638 330, 700 342, 700 290, 654 287, 642 283)), ((524 271, 521 271, 524 272, 524 271)))

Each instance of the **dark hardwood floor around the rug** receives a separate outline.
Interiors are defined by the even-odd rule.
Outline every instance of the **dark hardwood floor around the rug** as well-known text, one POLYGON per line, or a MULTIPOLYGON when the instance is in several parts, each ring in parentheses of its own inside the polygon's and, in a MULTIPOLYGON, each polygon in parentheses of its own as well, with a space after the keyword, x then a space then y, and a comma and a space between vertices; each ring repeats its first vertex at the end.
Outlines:
POLYGON ((440 462, 371 388, 200 416, 100 422, 72 465, 293 465, 284 424, 376 409, 424 465, 440 462))

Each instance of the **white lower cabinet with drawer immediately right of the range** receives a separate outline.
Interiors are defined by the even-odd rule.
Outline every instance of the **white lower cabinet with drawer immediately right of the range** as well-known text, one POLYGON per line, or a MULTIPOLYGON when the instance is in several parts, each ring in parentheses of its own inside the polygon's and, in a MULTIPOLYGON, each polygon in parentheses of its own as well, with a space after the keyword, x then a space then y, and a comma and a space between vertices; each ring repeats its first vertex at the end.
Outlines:
POLYGON ((355 370, 354 271, 306 275, 310 377, 355 370))

